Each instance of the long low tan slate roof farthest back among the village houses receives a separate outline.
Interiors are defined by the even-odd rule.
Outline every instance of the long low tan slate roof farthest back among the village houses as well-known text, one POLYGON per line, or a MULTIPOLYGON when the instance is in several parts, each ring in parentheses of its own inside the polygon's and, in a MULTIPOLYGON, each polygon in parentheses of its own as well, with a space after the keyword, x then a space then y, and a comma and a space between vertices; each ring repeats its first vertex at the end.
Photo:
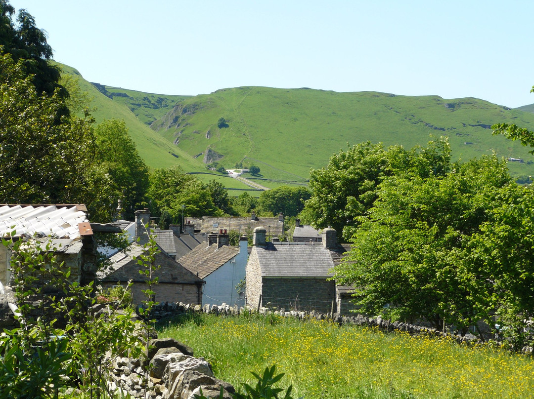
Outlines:
POLYGON ((228 232, 235 230, 239 234, 247 233, 247 230, 254 230, 258 226, 263 226, 267 230, 267 235, 279 236, 284 234, 284 223, 276 218, 255 218, 250 217, 215 217, 204 216, 202 218, 185 218, 185 223, 191 222, 195 225, 195 230, 200 229, 202 233, 209 233, 226 229, 228 232))

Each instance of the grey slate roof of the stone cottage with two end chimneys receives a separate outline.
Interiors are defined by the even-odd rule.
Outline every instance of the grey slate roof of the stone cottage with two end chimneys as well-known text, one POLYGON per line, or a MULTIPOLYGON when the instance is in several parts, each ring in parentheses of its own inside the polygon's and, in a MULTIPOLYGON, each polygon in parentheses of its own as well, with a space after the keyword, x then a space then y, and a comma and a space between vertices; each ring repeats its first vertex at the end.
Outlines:
POLYGON ((331 250, 321 243, 267 243, 255 248, 262 277, 332 277, 331 269, 346 251, 341 245, 331 250))

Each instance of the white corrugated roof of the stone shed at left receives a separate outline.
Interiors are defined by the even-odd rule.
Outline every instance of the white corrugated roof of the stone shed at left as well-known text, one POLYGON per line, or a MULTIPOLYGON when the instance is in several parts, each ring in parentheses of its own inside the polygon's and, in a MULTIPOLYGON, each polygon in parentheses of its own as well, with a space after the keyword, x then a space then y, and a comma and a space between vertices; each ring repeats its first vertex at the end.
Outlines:
POLYGON ((78 224, 88 222, 87 214, 78 205, 2 205, 0 236, 15 230, 15 237, 24 234, 54 236, 73 240, 80 236, 78 224))

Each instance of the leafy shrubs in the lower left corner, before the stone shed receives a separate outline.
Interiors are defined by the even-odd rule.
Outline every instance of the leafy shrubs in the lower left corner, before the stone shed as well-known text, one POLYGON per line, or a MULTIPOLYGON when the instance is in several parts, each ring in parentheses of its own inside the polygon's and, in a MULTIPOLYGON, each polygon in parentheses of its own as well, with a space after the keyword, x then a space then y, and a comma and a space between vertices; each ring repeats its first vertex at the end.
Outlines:
MULTIPOLYGON (((83 397, 113 397, 106 385, 114 356, 137 356, 132 309, 97 314, 92 284, 81 286, 59 264, 51 241, 3 241, 12 251, 20 328, 0 335, 0 396, 58 397, 67 387, 83 397), (56 328, 61 317, 62 327, 56 328)), ((116 302, 121 306, 126 291, 116 302)))

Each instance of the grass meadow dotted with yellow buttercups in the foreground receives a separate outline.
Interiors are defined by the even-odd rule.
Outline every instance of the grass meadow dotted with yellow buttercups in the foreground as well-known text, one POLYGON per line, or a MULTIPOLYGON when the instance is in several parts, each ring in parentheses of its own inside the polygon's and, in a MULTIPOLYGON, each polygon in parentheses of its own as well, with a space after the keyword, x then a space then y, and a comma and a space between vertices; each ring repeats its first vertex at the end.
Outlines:
POLYGON ((534 397, 534 358, 451 340, 279 316, 187 316, 159 336, 194 349, 240 389, 276 364, 294 398, 534 397))

